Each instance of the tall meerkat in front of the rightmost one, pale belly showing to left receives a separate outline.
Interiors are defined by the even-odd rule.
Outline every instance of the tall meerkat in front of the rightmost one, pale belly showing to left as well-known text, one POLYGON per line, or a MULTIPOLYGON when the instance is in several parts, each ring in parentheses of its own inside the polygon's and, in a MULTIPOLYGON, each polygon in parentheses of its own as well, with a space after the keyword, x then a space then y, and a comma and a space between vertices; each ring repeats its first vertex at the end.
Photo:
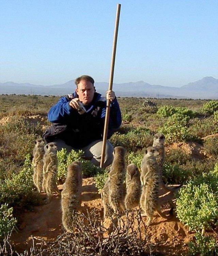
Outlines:
POLYGON ((146 148, 141 165, 140 180, 142 184, 142 194, 140 206, 144 211, 141 216, 147 216, 149 218, 146 223, 147 226, 150 225, 155 210, 165 219, 171 219, 173 211, 173 208, 171 208, 169 216, 163 214, 158 203, 159 167, 156 161, 158 155, 159 152, 157 148, 146 148))

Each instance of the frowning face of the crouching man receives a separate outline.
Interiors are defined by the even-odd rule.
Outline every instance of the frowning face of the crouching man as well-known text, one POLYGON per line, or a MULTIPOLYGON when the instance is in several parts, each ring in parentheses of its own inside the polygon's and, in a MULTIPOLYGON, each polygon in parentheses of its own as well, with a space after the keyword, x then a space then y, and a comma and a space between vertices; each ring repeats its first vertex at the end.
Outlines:
POLYGON ((83 104, 90 104, 94 97, 95 87, 90 81, 81 80, 77 85, 76 93, 83 104))

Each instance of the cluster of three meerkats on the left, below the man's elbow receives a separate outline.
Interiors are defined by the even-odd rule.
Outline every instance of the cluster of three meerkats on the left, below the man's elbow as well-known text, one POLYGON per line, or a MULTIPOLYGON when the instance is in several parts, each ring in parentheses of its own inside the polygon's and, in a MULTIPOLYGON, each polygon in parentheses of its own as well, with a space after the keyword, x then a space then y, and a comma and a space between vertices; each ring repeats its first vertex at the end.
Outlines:
POLYGON ((67 176, 60 193, 56 184, 58 170, 55 142, 45 145, 42 138, 35 140, 33 149, 33 183, 38 192, 45 192, 48 199, 53 192, 61 194, 62 223, 67 232, 73 232, 72 223, 81 205, 82 164, 74 161, 67 167, 67 176))

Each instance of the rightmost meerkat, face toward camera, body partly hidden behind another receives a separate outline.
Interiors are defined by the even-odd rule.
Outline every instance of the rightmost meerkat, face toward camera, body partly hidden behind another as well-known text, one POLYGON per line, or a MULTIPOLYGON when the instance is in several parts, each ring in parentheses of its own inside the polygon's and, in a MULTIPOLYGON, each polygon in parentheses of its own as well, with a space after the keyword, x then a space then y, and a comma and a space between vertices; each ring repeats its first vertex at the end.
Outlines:
POLYGON ((164 148, 165 136, 162 133, 154 135, 153 147, 157 148, 159 155, 157 156, 157 163, 159 166, 160 174, 160 186, 162 189, 168 192, 176 192, 182 185, 169 188, 163 183, 163 163, 165 162, 165 148, 164 148))

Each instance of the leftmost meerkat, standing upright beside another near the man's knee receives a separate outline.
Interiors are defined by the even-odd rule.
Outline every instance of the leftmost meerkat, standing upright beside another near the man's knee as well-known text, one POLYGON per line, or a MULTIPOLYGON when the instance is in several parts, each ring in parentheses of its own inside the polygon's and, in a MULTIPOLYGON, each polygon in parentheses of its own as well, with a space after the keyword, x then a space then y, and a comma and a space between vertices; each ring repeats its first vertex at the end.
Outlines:
POLYGON ((43 182, 43 157, 44 157, 45 141, 43 138, 37 138, 35 140, 35 146, 33 148, 33 183, 36 186, 38 192, 42 191, 43 182))

